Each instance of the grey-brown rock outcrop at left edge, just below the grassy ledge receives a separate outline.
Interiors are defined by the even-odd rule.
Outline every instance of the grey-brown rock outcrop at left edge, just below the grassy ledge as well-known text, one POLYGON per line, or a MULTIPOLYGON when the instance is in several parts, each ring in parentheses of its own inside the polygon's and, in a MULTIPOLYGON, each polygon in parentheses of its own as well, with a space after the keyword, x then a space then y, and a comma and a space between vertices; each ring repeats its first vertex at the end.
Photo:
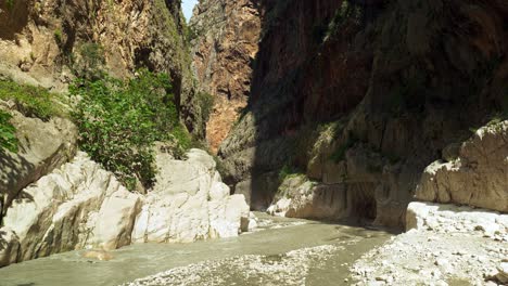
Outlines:
POLYGON ((25 117, 0 101, 0 108, 12 114, 18 153, 0 152, 0 221, 22 188, 68 161, 76 153, 77 130, 68 120, 45 122, 25 117))

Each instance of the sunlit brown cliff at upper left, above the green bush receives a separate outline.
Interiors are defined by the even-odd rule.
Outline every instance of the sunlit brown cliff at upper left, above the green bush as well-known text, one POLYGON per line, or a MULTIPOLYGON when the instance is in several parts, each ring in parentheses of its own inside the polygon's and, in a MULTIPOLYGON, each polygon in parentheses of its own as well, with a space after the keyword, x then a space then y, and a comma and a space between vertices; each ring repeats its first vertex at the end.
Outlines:
POLYGON ((0 25, 2 74, 62 90, 92 69, 116 77, 142 66, 165 72, 182 120, 204 136, 180 1, 2 1, 0 25))

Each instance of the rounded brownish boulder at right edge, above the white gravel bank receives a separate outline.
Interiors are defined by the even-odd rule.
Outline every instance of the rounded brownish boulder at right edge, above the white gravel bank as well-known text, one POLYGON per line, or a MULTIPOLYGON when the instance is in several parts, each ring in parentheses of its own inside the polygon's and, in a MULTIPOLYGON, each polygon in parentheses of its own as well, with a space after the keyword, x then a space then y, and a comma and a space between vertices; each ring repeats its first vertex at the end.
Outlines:
POLYGON ((455 159, 427 167, 416 198, 508 212, 508 121, 479 129, 455 159))

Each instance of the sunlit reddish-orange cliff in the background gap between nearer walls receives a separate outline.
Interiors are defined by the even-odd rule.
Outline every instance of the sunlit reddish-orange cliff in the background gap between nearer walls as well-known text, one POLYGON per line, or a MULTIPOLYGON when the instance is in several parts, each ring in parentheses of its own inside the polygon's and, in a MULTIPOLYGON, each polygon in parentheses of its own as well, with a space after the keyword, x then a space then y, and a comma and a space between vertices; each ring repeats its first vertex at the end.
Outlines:
POLYGON ((259 34, 258 1, 200 1, 190 22, 193 69, 214 96, 206 138, 216 152, 247 103, 259 34))

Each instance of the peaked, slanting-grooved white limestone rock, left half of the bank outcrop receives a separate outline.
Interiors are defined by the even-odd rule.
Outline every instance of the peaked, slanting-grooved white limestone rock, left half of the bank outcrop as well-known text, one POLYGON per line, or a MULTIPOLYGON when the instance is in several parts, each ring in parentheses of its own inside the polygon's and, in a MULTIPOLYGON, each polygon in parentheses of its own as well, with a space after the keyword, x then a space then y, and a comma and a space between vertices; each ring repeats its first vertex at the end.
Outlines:
MULTIPOLYGON (((3 218, 4 225, 18 236, 18 261, 75 248, 99 246, 98 243, 103 242, 99 239, 96 243, 97 238, 103 237, 101 231, 104 227, 101 225, 116 222, 115 216, 124 214, 116 211, 124 210, 118 208, 123 205, 115 204, 119 194, 135 196, 128 193, 111 172, 101 169, 84 153, 78 153, 72 162, 63 165, 24 188, 3 218), (96 226, 94 212, 100 210, 101 205, 115 213, 113 216, 103 210, 100 212, 101 221, 98 220, 96 226)), ((107 246, 126 245, 123 236, 128 235, 129 230, 120 226, 122 223, 134 223, 135 214, 130 216, 122 218, 125 221, 118 222, 119 225, 105 225, 109 234, 118 234, 107 237, 115 240, 106 240, 110 243, 107 246)))

